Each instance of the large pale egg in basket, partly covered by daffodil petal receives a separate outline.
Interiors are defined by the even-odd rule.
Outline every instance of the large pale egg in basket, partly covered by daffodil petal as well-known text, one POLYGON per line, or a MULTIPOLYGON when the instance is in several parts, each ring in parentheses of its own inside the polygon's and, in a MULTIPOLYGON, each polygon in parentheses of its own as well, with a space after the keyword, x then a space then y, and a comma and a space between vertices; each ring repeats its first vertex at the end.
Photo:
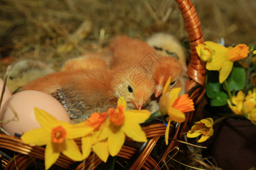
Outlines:
POLYGON ((35 118, 35 107, 43 109, 57 120, 71 122, 64 107, 54 97, 44 92, 27 90, 14 94, 3 105, 0 111, 2 128, 11 135, 41 128, 35 118))

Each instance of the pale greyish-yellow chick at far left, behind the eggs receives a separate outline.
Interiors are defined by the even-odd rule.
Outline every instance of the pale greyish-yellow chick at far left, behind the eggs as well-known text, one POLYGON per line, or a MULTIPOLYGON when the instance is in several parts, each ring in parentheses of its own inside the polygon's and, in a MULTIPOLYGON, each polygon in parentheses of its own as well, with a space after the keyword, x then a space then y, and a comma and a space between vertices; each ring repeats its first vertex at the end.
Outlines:
POLYGON ((24 59, 13 65, 7 79, 7 86, 11 93, 14 94, 20 91, 28 82, 53 73, 54 71, 55 70, 42 61, 24 59))

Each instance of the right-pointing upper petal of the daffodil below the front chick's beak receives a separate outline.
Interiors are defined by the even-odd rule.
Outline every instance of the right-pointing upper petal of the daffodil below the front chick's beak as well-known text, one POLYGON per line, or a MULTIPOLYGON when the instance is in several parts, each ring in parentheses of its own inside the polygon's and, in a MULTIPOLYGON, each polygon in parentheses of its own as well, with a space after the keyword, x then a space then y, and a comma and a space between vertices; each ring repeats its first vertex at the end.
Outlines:
POLYGON ((125 111, 125 121, 140 124, 150 117, 150 112, 146 110, 129 110, 125 111))

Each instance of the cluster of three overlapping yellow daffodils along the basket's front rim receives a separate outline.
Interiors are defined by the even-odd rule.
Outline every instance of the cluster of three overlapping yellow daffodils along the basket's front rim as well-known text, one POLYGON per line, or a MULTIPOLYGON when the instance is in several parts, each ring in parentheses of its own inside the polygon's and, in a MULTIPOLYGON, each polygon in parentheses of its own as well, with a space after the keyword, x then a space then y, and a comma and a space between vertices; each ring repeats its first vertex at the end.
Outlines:
POLYGON ((118 99, 117 109, 110 108, 108 113, 93 113, 88 120, 77 125, 58 121, 51 114, 35 108, 36 120, 42 128, 27 131, 21 139, 28 144, 46 145, 46 169, 56 162, 60 153, 72 160, 81 161, 88 158, 93 150, 106 162, 109 154, 115 156, 121 150, 125 135, 137 142, 147 142, 146 134, 139 124, 149 116, 150 112, 146 110, 126 111, 124 97, 118 99), (75 138, 81 138, 82 153, 75 138))

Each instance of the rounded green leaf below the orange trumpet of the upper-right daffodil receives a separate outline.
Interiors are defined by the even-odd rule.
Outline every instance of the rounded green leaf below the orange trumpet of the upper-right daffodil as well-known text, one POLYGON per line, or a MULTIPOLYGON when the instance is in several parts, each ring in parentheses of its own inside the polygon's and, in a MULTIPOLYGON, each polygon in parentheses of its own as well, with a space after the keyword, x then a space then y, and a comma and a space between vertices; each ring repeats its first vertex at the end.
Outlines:
POLYGON ((242 90, 245 88, 246 72, 242 67, 233 67, 231 74, 227 79, 230 91, 242 90))

